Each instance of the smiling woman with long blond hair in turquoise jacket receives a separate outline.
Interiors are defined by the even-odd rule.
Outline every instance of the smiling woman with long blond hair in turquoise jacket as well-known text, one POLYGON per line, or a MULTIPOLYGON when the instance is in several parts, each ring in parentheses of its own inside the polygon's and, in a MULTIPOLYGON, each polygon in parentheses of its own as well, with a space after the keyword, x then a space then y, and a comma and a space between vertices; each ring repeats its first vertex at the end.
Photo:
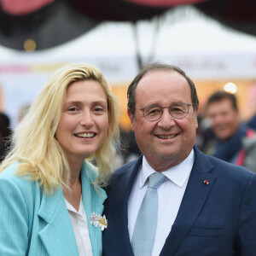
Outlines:
POLYGON ((0 255, 102 255, 101 187, 114 166, 117 118, 96 67, 68 65, 49 79, 0 166, 0 255))

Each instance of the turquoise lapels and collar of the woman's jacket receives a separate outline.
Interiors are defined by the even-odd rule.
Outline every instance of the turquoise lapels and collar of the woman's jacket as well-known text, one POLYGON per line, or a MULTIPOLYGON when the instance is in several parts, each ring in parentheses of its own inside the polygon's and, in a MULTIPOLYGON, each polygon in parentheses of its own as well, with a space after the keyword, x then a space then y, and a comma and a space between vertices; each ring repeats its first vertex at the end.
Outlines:
MULTIPOLYGON (((102 213, 102 204, 107 198, 106 192, 103 189, 99 188, 98 193, 94 189, 92 183, 96 176, 95 167, 88 162, 84 162, 81 169, 83 204, 91 237, 91 245, 95 255, 98 254, 96 253, 98 245, 92 241, 92 238, 95 236, 96 238, 101 238, 102 230, 100 228, 92 229, 90 225, 90 212, 102 213)), ((44 229, 39 232, 39 236, 49 255, 55 255, 56 252, 60 255, 79 255, 73 234, 73 226, 67 212, 61 188, 53 195, 47 195, 43 191, 38 216, 46 223, 44 229)))

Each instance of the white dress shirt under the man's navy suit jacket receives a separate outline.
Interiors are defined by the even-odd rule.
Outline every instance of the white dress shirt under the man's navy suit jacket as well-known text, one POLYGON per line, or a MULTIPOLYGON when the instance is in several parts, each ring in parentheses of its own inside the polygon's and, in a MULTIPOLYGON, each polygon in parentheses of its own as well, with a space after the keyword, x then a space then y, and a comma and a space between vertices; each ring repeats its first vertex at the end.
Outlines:
MULTIPOLYGON (((153 256, 160 255, 166 242, 166 238, 172 230, 172 224, 177 217, 177 212, 183 199, 189 175, 194 164, 194 157, 195 153, 194 149, 192 149, 189 156, 183 160, 183 162, 162 172, 168 177, 168 180, 161 183, 160 187, 157 189, 159 208, 152 251, 153 256)), ((137 213, 148 189, 148 176, 154 172, 154 169, 148 165, 148 161, 143 156, 143 166, 135 178, 128 201, 128 230, 130 241, 133 235, 137 213)))

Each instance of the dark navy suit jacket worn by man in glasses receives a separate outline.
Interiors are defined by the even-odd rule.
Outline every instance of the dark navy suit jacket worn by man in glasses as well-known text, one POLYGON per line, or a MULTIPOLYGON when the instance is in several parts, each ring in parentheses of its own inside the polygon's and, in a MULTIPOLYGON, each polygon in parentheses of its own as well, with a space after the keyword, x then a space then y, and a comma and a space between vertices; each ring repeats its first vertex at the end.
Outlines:
MULTIPOLYGON (((113 173, 105 204, 108 229, 103 232, 104 256, 133 255, 127 201, 141 165, 142 156, 113 173)), ((255 256, 256 175, 195 148, 183 201, 160 253, 171 255, 255 256)))

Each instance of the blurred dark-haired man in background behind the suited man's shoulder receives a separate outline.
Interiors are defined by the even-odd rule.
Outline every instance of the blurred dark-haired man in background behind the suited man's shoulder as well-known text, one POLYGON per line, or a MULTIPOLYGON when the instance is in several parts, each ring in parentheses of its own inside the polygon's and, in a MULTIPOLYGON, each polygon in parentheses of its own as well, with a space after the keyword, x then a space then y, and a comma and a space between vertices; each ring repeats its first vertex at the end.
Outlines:
POLYGON ((215 134, 203 152, 256 172, 256 137, 241 124, 236 96, 217 91, 207 101, 207 117, 215 134))

